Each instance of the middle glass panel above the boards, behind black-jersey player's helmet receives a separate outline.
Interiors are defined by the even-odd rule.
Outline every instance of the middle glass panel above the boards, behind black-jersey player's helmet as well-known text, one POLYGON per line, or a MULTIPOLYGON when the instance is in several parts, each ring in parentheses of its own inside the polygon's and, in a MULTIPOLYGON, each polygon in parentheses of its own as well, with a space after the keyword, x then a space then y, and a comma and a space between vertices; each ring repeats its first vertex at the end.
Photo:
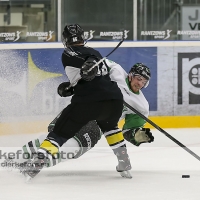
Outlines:
POLYGON ((65 0, 62 29, 78 23, 88 40, 133 40, 133 0, 65 0))

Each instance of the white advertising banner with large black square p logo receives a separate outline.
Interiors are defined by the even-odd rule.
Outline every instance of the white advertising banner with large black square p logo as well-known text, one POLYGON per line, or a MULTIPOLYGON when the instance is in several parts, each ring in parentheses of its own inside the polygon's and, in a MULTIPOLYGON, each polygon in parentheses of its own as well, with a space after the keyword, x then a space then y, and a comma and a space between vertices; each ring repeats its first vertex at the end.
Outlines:
POLYGON ((200 114, 199 47, 158 47, 158 114, 200 114))

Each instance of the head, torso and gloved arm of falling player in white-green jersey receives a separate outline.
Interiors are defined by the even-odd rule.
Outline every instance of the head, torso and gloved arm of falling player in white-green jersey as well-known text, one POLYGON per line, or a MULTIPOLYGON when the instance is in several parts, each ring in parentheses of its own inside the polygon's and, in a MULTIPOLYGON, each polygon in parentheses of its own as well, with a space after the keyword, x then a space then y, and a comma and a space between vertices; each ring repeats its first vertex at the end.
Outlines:
MULTIPOLYGON (((142 63, 136 63, 127 74, 120 65, 110 60, 107 60, 107 64, 111 68, 111 80, 117 82, 123 94, 124 101, 145 117, 148 117, 149 103, 141 89, 146 88, 149 84, 151 77, 150 69, 142 63)), ((136 146, 144 142, 153 141, 154 138, 150 129, 142 128, 146 121, 126 106, 124 106, 121 119, 125 120, 123 134, 127 141, 136 146)))

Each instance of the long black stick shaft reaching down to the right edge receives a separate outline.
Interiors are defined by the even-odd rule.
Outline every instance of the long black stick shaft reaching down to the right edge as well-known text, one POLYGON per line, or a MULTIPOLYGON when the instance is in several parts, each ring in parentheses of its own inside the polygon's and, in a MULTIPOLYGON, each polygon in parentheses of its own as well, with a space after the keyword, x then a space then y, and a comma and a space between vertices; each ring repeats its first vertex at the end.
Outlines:
POLYGON ((124 105, 127 108, 129 108, 130 110, 132 110, 133 112, 135 112, 136 114, 138 114, 141 118, 143 118, 144 120, 146 120, 149 124, 151 124, 153 127, 155 127, 156 129, 158 129, 161 133, 163 133, 165 136, 167 136, 169 139, 171 139, 173 142, 175 142, 176 144, 178 144, 180 147, 182 147, 184 150, 186 150, 189 154, 191 154, 192 156, 194 156, 196 159, 198 159, 200 161, 200 157, 197 154, 195 154, 193 151, 191 151, 188 147, 186 147, 184 144, 182 144, 177 139, 175 139, 174 137, 172 137, 169 133, 167 133, 165 130, 163 130, 162 128, 160 128, 158 125, 156 125, 150 119, 146 118, 143 114, 141 114, 135 108, 133 108, 132 106, 130 106, 129 104, 127 104, 125 101, 124 101, 124 105))

